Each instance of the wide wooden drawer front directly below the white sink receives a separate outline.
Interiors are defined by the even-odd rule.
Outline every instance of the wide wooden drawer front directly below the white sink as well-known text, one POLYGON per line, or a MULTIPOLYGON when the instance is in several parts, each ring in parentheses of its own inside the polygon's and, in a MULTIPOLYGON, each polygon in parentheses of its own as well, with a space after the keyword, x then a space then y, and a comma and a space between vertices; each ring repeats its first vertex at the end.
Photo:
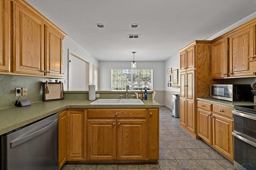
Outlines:
POLYGON ((146 118, 146 109, 88 109, 88 118, 97 117, 140 117, 146 118))

